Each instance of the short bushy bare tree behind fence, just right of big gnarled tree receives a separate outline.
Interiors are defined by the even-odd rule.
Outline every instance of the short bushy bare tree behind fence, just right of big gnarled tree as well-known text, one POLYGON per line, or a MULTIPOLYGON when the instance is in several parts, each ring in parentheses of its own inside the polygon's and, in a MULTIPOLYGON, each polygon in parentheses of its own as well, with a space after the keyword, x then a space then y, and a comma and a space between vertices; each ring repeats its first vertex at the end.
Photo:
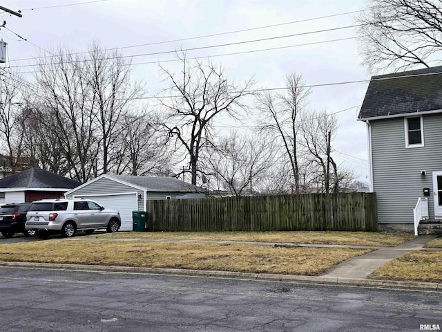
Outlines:
POLYGON ((268 138, 231 131, 220 139, 206 158, 216 189, 229 190, 235 196, 253 194, 261 187, 261 178, 273 164, 275 146, 268 138))

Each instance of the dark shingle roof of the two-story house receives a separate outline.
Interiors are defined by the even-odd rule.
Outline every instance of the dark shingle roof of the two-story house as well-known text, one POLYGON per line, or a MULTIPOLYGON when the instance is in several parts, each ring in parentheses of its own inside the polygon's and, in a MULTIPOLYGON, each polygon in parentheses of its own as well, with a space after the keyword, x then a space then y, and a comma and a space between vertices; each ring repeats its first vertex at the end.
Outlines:
POLYGON ((442 111, 442 66, 373 76, 358 119, 435 110, 442 111))

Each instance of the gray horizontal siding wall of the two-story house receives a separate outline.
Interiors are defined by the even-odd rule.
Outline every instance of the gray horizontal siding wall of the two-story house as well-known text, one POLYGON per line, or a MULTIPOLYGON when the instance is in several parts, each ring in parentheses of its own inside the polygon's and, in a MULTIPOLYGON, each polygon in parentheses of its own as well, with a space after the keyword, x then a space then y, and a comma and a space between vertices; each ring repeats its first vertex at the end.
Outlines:
MULTIPOLYGON (((432 192, 432 172, 442 171, 442 115, 423 116, 424 147, 405 148, 403 118, 370 121, 372 128, 373 188, 379 223, 413 223, 413 209, 432 192), (421 177, 421 170, 427 172, 421 177)), ((430 217, 434 216, 429 196, 430 217)))

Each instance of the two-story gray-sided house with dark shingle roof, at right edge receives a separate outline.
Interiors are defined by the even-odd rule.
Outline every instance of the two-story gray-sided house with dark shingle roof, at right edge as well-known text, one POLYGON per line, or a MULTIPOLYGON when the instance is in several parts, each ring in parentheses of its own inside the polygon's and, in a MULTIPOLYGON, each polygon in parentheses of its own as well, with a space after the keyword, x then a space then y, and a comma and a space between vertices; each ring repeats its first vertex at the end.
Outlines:
POLYGON ((373 76, 358 120, 380 229, 412 230, 416 207, 442 219, 442 66, 373 76))

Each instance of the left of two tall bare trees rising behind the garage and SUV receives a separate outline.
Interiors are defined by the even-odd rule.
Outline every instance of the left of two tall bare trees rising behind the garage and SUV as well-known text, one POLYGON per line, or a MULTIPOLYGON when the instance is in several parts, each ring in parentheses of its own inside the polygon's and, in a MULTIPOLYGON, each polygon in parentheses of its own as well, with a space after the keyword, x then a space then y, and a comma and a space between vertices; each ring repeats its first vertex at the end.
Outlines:
POLYGON ((49 59, 40 58, 35 78, 40 104, 45 104, 53 130, 59 135, 72 178, 88 181, 97 169, 99 135, 95 122, 93 88, 84 73, 87 62, 80 55, 60 49, 49 59))

